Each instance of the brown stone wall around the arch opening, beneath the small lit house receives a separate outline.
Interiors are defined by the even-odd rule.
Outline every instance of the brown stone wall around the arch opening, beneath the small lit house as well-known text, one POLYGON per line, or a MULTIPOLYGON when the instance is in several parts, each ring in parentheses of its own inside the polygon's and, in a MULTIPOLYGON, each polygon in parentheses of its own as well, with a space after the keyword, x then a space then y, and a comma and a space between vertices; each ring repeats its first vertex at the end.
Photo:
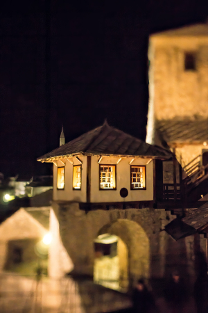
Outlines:
MULTIPOLYGON (((73 271, 92 275, 94 239, 99 234, 115 234, 128 247, 130 276, 162 278, 180 264, 193 274, 193 238, 174 241, 164 227, 175 218, 164 209, 110 209, 81 211, 77 203, 57 204, 53 209, 59 220, 61 243, 66 249, 73 271), (178 257, 180 255, 180 257, 178 257)), ((53 231, 53 230, 52 230, 53 231)), ((58 256, 54 263, 59 264, 58 256)), ((67 271, 60 268, 60 275, 67 271)))

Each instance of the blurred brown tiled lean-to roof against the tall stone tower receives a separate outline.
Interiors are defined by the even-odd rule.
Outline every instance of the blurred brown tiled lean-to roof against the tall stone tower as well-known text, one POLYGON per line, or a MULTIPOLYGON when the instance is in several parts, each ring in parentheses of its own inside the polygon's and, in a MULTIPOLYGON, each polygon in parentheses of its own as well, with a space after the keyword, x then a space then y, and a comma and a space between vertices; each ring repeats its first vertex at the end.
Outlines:
POLYGON ((203 143, 208 141, 208 120, 203 118, 173 118, 157 120, 155 123, 157 136, 166 143, 203 143))

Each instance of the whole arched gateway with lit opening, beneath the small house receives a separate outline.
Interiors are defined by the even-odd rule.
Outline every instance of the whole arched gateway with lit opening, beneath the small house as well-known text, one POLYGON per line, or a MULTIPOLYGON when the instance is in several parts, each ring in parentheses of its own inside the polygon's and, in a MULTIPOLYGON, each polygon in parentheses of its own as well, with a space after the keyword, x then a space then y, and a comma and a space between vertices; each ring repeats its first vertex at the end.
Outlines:
POLYGON ((94 280, 126 291, 138 278, 148 278, 149 240, 132 220, 118 219, 105 225, 94 240, 94 280))

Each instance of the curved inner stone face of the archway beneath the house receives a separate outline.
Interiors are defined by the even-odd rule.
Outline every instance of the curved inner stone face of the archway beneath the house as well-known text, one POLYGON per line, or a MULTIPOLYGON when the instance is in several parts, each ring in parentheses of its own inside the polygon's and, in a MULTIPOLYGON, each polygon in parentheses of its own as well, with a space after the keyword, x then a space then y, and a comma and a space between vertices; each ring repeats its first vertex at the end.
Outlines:
MULTIPOLYGON (((150 247, 149 239, 144 229, 132 220, 118 219, 101 228, 98 236, 109 234, 121 239, 121 245, 126 246, 123 249, 123 257, 126 255, 128 264, 128 280, 130 286, 135 284, 138 278, 148 278, 150 268, 150 247)), ((121 249, 121 251, 122 251, 121 249)), ((118 257, 122 258, 120 251, 118 257)), ((119 262, 119 261, 118 261, 119 262)), ((121 264, 121 262, 119 262, 121 264)))

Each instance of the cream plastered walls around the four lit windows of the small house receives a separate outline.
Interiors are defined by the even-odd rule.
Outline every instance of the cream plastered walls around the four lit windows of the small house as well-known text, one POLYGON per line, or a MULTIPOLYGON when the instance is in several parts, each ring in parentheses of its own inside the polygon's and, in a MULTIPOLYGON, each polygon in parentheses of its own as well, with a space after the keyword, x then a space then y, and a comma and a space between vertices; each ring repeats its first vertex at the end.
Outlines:
MULTIPOLYGON (((87 157, 79 156, 82 164, 82 188, 80 191, 73 191, 72 176, 73 166, 69 161, 65 165, 64 190, 57 189, 57 167, 53 165, 53 200, 86 202, 87 201, 87 157)), ((92 156, 91 164, 91 192, 90 202, 123 202, 121 188, 128 189, 128 196, 125 201, 151 201, 153 200, 153 161, 150 159, 135 158, 131 165, 146 166, 146 190, 130 190, 130 161, 131 158, 123 158, 119 164, 118 157, 103 157, 100 164, 116 164, 116 190, 99 190, 99 163, 100 156, 92 156)), ((73 165, 79 165, 79 161, 73 158, 73 165)), ((58 161, 58 166, 62 163, 58 161)))

